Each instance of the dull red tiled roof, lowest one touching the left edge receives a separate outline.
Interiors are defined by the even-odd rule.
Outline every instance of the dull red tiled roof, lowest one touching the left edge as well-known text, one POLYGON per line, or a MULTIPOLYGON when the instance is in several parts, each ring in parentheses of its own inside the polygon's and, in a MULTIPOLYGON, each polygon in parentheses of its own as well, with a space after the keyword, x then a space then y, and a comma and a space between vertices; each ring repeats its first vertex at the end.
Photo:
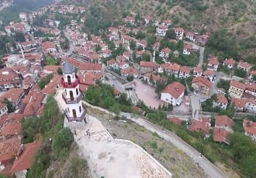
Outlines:
POLYGON ((14 136, 10 139, 2 139, 0 141, 0 162, 12 159, 18 152, 21 139, 14 136))

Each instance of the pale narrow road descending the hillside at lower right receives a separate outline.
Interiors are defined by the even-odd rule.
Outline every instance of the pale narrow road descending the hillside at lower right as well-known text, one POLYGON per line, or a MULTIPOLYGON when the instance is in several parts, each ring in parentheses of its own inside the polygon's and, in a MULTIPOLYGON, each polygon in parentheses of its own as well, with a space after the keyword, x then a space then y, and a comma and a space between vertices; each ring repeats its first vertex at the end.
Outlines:
POLYGON ((127 113, 125 113, 124 115, 133 122, 136 122, 138 125, 144 126, 144 128, 147 128, 148 130, 150 130, 150 132, 156 132, 157 135, 159 135, 161 138, 167 140, 168 142, 171 142, 178 149, 181 149, 183 152, 185 152, 185 154, 190 156, 195 163, 199 164, 199 167, 203 169, 207 176, 211 178, 226 177, 223 175, 220 169, 213 165, 213 163, 209 162, 209 160, 206 159, 204 156, 201 157, 200 153, 197 150, 193 149, 189 144, 184 142, 173 132, 162 130, 160 126, 154 125, 144 118, 133 118, 127 113))

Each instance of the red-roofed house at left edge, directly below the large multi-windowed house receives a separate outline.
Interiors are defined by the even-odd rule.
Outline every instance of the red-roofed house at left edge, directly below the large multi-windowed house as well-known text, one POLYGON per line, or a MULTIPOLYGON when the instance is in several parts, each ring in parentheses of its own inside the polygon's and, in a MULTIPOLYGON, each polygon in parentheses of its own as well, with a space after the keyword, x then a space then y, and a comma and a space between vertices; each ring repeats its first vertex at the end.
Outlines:
POLYGON ((19 104, 24 97, 24 90, 23 88, 11 88, 9 91, 7 91, 5 94, 2 94, 0 97, 0 101, 5 101, 5 98, 12 102, 13 106, 16 107, 16 109, 19 108, 19 104))

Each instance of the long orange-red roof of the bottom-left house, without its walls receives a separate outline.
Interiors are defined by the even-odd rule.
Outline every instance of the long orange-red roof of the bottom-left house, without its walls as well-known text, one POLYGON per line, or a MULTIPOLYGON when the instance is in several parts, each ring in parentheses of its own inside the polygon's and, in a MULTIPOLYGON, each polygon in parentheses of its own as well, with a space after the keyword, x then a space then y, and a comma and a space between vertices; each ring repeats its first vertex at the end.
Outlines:
POLYGON ((24 145, 24 151, 12 165, 12 173, 31 168, 35 161, 36 152, 40 149, 41 142, 30 142, 24 145))

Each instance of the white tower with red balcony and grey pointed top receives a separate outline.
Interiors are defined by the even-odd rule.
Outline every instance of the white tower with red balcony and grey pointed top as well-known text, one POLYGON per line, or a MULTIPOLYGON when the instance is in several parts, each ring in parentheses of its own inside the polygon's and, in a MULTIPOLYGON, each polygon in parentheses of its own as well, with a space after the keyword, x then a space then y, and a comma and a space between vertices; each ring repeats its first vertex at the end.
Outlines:
POLYGON ((61 83, 64 87, 62 98, 67 105, 64 114, 68 122, 85 121, 86 109, 82 104, 84 95, 79 89, 80 80, 78 75, 74 74, 74 66, 68 60, 63 65, 61 83))

